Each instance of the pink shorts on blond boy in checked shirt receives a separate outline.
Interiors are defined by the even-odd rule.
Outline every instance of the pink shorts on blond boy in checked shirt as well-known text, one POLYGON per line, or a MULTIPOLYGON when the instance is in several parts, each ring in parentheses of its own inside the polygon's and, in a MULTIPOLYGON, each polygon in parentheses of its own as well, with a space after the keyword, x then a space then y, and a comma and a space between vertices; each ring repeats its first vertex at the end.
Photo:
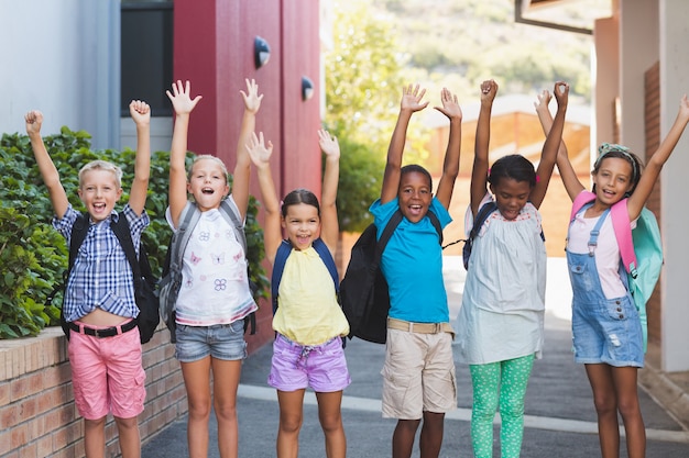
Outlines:
POLYGON ((70 331, 68 351, 74 401, 83 417, 98 420, 112 412, 132 418, 143 412, 146 373, 139 327, 100 338, 70 331))

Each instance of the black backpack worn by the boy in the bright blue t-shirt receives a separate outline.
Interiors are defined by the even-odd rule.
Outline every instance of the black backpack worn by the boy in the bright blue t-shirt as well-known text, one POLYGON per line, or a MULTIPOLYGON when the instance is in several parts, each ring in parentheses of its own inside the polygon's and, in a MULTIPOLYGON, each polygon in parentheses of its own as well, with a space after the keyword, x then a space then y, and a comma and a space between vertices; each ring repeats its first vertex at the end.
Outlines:
MULTIPOLYGON (((385 225, 381 238, 376 239, 378 228, 370 224, 352 247, 347 271, 340 283, 342 311, 349 321, 349 338, 359 337, 375 344, 384 344, 387 338, 387 312, 390 292, 380 264, 383 250, 402 221, 397 210, 385 225)), ((442 245, 442 228, 435 213, 428 217, 438 232, 442 245)))

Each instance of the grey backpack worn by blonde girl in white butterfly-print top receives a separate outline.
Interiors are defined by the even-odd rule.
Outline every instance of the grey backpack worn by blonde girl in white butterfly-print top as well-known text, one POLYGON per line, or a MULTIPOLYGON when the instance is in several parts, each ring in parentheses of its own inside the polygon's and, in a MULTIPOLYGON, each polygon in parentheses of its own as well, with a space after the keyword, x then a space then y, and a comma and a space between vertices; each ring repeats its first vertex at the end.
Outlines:
MULTIPOLYGON (((230 226, 234 230, 234 236, 242 246, 244 255, 247 254, 247 236, 244 235, 244 225, 241 221, 241 215, 237 211, 237 208, 231 205, 228 200, 223 200, 219 206, 220 214, 225 220, 230 223, 230 226)), ((189 243, 189 237, 194 232, 194 227, 198 223, 201 216, 201 211, 198 210, 194 202, 187 202, 185 208, 179 214, 179 227, 173 234, 169 239, 167 248, 167 256, 165 257, 165 264, 163 265, 163 279, 161 280, 160 288, 160 315, 167 328, 169 329, 169 342, 177 342, 175 329, 177 324, 175 322, 175 304, 177 303, 177 297, 179 295, 179 288, 182 287, 182 265, 184 250, 189 243)), ((247 275, 250 277, 249 262, 247 262, 247 275)), ((251 284, 250 284, 251 287, 251 284)), ((254 288, 251 287, 252 292, 254 288)), ((256 332, 256 317, 255 312, 244 316, 244 332, 251 327, 250 334, 256 332)))

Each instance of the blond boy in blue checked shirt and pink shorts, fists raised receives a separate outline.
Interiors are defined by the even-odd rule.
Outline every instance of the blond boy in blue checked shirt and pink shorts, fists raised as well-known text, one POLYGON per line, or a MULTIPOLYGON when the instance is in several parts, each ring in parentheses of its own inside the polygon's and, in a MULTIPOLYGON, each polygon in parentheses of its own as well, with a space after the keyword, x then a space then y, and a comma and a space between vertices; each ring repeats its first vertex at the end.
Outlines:
MULTIPOLYGON (((141 340, 134 320, 131 267, 110 228, 110 221, 125 217, 136 252, 141 233, 149 225, 144 210, 149 188, 151 109, 133 100, 129 105, 136 124, 134 182, 129 203, 121 212, 114 205, 122 196, 122 170, 105 160, 94 160, 79 170, 79 199, 89 213, 89 227, 67 279, 63 301, 69 325, 69 364, 74 400, 84 417, 84 448, 87 457, 103 456, 106 417, 112 412, 123 458, 141 456, 138 415, 143 412, 145 378, 141 340)), ((43 114, 24 116, 33 154, 47 187, 55 217, 53 225, 69 244, 79 212, 72 208, 41 137, 43 114)))

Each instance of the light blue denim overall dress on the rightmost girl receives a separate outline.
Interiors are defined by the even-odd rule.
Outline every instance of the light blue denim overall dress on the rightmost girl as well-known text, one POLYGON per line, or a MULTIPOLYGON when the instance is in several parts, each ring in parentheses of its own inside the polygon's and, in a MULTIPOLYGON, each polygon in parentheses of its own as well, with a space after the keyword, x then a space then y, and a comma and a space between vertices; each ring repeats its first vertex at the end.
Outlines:
MULTIPOLYGON (((590 205, 584 205, 586 211, 590 205)), ((620 264, 620 277, 627 294, 605 299, 595 266, 595 247, 610 209, 599 217, 589 238, 589 253, 567 250, 572 286, 572 335, 575 361, 608 364, 616 367, 644 366, 644 344, 638 311, 628 293, 626 273, 620 264)), ((571 224, 570 224, 571 230, 571 224)))

